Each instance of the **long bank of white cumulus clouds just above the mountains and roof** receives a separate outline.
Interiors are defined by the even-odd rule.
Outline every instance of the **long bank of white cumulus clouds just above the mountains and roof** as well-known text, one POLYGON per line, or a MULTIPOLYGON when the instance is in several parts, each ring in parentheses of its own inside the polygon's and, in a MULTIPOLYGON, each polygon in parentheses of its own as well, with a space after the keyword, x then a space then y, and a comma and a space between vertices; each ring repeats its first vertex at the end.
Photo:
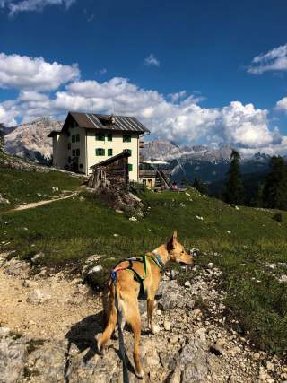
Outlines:
MULTIPOLYGON (((76 69, 72 80, 65 80, 65 87, 57 88, 54 93, 43 90, 46 81, 44 85, 37 83, 33 87, 26 78, 22 80, 18 97, 0 104, 0 122, 13 125, 16 118, 29 121, 43 115, 65 118, 68 110, 86 112, 92 109, 108 114, 113 110, 115 114, 139 118, 150 128, 153 138, 168 139, 178 144, 229 143, 246 154, 287 149, 286 137, 270 128, 268 111, 257 109, 253 104, 232 101, 223 108, 204 108, 199 104, 202 96, 188 95, 187 91, 164 96, 158 91, 140 88, 122 77, 101 83, 81 81, 76 69)), ((57 81, 54 83, 55 88, 57 81)), ((58 83, 63 84, 63 80, 58 83)), ((8 86, 7 81, 4 84, 8 86)), ((11 82, 9 86, 12 86, 11 82)))

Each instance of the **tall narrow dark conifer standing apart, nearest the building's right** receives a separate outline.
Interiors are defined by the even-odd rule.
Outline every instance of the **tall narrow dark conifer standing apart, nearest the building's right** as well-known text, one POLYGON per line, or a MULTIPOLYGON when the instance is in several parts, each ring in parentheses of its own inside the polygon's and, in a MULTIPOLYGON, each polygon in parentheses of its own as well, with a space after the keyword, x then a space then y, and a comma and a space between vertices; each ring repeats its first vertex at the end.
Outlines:
POLYGON ((239 152, 233 150, 230 160, 230 169, 225 183, 224 199, 225 202, 228 202, 229 204, 244 205, 245 189, 240 174, 239 152))

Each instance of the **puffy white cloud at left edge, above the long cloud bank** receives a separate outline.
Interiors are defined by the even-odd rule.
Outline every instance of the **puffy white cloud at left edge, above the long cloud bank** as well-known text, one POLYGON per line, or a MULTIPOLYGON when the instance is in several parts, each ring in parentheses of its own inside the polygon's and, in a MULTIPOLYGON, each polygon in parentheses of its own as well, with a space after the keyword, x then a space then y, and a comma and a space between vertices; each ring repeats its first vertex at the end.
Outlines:
POLYGON ((77 65, 48 63, 43 57, 0 53, 0 88, 52 91, 79 76, 77 65))

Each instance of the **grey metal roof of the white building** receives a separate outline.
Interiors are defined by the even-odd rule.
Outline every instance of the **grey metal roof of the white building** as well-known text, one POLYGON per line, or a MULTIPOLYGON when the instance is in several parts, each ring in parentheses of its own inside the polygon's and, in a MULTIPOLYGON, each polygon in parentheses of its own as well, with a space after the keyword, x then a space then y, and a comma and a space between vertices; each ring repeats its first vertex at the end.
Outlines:
POLYGON ((110 115, 100 115, 92 113, 78 113, 78 112, 69 112, 65 124, 68 123, 69 117, 72 116, 77 124, 81 127, 89 129, 105 129, 111 131, 128 131, 135 132, 139 134, 150 133, 141 122, 138 121, 135 117, 128 116, 110 116, 110 115), (111 123, 111 117, 114 118, 114 123, 111 123))

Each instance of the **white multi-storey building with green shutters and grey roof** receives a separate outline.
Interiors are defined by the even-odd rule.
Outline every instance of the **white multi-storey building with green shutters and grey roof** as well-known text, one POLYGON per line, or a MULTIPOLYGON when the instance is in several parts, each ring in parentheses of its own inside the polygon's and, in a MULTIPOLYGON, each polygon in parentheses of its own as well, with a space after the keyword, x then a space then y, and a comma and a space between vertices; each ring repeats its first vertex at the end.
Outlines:
POLYGON ((140 137, 149 130, 136 118, 69 112, 60 132, 53 131, 53 166, 86 175, 91 166, 127 151, 129 178, 139 182, 140 137))

